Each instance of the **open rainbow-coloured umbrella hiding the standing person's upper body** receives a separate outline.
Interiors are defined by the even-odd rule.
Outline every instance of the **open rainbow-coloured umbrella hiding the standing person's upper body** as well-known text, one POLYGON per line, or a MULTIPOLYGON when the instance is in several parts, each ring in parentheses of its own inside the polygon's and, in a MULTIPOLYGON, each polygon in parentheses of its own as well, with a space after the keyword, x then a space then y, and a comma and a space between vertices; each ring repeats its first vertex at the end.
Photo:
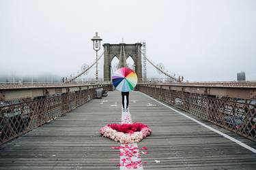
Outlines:
POLYGON ((135 71, 128 67, 122 67, 113 73, 112 82, 117 90, 130 92, 136 86, 138 78, 135 71))

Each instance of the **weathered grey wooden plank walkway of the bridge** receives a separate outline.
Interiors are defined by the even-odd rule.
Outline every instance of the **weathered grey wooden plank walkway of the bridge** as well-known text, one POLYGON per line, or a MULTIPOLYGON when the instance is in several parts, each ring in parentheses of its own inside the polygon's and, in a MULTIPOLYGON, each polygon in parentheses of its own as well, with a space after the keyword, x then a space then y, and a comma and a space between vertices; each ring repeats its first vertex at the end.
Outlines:
MULTIPOLYGON (((130 93, 130 114, 133 122, 153 130, 138 144, 149 152, 141 155, 147 161, 143 169, 256 169, 256 154, 141 92, 130 93)), ((0 169, 119 169, 119 150, 111 148, 119 144, 98 133, 101 126, 117 122, 121 122, 121 96, 109 92, 106 98, 89 101, 0 146, 0 169)), ((204 123, 256 148, 253 141, 204 123)))

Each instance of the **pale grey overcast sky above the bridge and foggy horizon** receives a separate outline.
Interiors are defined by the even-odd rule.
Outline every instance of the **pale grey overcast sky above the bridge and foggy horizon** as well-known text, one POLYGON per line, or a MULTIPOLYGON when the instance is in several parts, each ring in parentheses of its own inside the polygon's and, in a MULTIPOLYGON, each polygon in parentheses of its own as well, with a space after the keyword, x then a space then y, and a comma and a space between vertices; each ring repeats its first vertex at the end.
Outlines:
POLYGON ((145 40, 152 61, 190 81, 236 80, 240 71, 256 80, 255 9, 254 0, 0 0, 0 73, 75 73, 94 61, 97 31, 103 43, 145 40))

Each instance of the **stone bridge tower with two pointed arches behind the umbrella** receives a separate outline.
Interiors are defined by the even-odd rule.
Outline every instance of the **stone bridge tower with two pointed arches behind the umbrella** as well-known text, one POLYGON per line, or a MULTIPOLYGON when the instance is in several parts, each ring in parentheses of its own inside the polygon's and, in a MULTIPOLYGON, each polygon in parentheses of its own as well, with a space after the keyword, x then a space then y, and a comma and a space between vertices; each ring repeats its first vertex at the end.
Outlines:
POLYGON ((111 81, 111 61, 116 56, 119 59, 119 67, 126 66, 126 59, 130 56, 135 65, 135 72, 138 82, 142 80, 141 66, 141 46, 142 44, 103 44, 104 47, 104 81, 111 81))

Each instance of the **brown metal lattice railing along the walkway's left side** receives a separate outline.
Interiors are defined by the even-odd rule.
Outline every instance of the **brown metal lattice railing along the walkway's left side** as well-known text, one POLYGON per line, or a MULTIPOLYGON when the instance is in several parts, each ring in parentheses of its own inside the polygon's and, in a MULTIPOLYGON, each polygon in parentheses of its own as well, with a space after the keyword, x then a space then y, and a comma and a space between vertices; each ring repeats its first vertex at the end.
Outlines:
MULTIPOLYGON (((0 145, 94 99, 96 88, 0 105, 0 145)), ((107 90, 109 87, 102 88, 107 90)))

